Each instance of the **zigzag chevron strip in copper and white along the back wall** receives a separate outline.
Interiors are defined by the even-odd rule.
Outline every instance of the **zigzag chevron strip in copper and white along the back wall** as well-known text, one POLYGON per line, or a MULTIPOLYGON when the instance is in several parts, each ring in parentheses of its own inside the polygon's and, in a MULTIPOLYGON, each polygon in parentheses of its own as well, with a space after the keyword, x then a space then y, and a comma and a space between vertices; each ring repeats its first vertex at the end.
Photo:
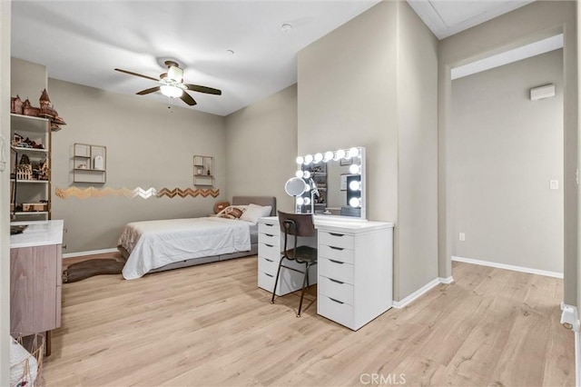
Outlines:
POLYGON ((56 188, 54 190, 54 195, 61 199, 68 199, 70 197, 76 197, 78 199, 88 199, 88 198, 102 198, 104 196, 125 196, 129 199, 133 199, 135 197, 141 197, 142 199, 149 199, 151 197, 162 198, 168 197, 170 199, 174 197, 181 197, 182 199, 188 196, 192 197, 208 197, 212 196, 216 198, 220 195, 220 189, 212 190, 212 189, 201 189, 201 188, 165 188, 163 187, 161 190, 157 190, 156 188, 142 188, 136 187, 133 190, 128 188, 112 188, 112 187, 105 187, 105 188, 95 188, 95 187, 88 187, 85 189, 81 189, 79 187, 68 187, 68 188, 56 188))

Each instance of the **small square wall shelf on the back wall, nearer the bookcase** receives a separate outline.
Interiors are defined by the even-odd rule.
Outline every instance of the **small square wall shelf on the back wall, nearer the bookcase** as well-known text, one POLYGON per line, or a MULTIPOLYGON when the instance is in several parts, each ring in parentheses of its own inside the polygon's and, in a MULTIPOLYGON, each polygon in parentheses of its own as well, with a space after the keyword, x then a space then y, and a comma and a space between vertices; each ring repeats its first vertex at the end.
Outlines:
POLYGON ((107 148, 103 145, 74 144, 74 183, 103 184, 107 181, 107 148))

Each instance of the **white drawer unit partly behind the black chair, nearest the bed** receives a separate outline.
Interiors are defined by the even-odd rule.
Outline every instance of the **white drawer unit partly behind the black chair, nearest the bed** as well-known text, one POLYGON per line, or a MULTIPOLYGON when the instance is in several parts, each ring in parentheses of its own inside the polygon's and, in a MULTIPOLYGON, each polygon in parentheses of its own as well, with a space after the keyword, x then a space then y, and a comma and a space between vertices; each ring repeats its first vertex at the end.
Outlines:
MULTIPOLYGON (((281 262, 281 251, 284 247, 284 233, 281 235, 279 218, 270 216, 258 221, 258 286, 261 289, 272 292, 276 273, 281 262)), ((316 238, 299 238, 300 244, 317 246, 316 238)), ((289 240, 288 243, 294 243, 289 240)), ((304 264, 287 261, 287 266, 304 270, 304 264)), ((281 278, 277 284, 276 295, 284 295, 302 288, 303 275, 292 270, 282 269, 281 278)), ((317 267, 311 267, 309 271, 309 283, 317 283, 317 267)))

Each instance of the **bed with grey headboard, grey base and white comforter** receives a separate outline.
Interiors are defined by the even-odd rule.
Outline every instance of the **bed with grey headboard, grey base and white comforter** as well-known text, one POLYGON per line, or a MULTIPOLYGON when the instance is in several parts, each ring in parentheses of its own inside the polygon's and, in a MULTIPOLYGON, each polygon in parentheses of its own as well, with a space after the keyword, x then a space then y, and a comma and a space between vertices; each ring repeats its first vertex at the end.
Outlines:
MULTIPOLYGON (((232 197, 232 206, 250 204, 271 206, 267 215, 276 214, 274 197, 232 197)), ((258 225, 216 216, 127 223, 118 249, 127 260, 123 278, 132 280, 146 273, 255 255, 258 225)))

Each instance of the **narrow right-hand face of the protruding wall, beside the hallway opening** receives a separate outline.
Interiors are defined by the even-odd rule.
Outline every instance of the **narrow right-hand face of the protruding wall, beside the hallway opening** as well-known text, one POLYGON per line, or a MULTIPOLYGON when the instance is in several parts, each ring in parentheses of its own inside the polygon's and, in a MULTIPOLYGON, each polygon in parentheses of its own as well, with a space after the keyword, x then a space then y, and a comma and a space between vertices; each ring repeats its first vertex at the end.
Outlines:
POLYGON ((438 277, 438 40, 399 3, 397 300, 438 277))

